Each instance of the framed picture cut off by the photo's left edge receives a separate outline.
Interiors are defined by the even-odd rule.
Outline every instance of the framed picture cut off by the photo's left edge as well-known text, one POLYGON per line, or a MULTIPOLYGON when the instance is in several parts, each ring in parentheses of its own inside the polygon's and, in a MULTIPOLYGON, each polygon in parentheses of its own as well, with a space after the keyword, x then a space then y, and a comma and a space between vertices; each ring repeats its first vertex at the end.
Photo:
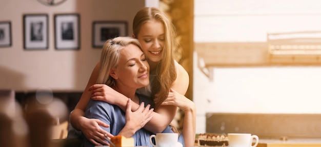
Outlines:
POLYGON ((11 22, 0 22, 0 47, 10 47, 11 43, 11 22))

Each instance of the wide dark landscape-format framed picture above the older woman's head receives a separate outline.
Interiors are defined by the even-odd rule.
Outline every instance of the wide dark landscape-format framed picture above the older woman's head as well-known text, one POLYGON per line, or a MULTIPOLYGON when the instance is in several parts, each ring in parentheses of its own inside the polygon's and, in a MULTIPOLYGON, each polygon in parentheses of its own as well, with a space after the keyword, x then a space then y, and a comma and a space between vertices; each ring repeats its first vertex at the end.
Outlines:
POLYGON ((92 25, 93 48, 102 48, 106 40, 118 36, 127 36, 127 22, 125 21, 96 21, 92 25))

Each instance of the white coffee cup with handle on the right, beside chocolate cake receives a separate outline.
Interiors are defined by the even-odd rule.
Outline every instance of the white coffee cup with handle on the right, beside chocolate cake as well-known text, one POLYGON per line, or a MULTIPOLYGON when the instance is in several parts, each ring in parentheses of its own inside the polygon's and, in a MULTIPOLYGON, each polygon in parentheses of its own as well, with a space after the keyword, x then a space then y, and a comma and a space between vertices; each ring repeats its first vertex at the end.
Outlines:
POLYGON ((228 133, 229 145, 231 147, 255 147, 258 144, 258 137, 247 133, 228 133), (253 139, 255 138, 255 143, 253 139))

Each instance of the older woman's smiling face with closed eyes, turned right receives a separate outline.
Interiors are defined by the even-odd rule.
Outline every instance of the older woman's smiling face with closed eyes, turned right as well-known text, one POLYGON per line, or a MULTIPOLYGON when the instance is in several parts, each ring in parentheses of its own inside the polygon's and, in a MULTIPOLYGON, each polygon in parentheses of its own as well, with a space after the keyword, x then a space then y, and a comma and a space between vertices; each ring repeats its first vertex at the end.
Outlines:
POLYGON ((118 66, 111 75, 116 80, 116 87, 136 90, 148 86, 149 65, 143 51, 130 44, 119 53, 118 66))

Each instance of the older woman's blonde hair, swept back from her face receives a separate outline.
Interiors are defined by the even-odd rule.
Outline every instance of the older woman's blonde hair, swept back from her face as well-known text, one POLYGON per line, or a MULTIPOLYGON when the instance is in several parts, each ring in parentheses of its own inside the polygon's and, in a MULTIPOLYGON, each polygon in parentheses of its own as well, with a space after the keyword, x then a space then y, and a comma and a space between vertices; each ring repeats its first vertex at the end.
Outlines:
POLYGON ((100 60, 97 83, 103 83, 109 87, 115 86, 115 79, 109 75, 110 70, 112 68, 117 68, 120 56, 119 52, 130 44, 136 45, 142 50, 142 46, 139 44, 139 41, 132 37, 116 37, 108 39, 105 42, 100 60))

